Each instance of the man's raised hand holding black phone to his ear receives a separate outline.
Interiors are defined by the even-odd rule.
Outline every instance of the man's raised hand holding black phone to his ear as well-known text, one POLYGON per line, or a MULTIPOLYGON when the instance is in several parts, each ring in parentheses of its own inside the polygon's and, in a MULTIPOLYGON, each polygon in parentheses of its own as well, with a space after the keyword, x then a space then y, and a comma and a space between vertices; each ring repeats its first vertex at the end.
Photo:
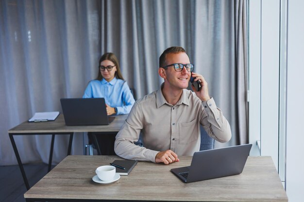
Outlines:
POLYGON ((196 96, 198 96, 203 102, 210 99, 208 92, 208 84, 202 75, 191 72, 190 82, 192 89, 196 96))

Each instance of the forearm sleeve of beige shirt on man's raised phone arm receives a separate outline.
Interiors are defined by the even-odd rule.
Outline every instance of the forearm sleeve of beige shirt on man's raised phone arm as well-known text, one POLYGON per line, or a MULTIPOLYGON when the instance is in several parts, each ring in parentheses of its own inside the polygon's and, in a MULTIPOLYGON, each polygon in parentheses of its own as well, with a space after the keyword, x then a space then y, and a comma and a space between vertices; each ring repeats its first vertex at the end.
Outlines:
POLYGON ((227 142, 231 139, 231 128, 222 111, 217 108, 214 99, 202 102, 201 124, 208 135, 219 141, 227 142))

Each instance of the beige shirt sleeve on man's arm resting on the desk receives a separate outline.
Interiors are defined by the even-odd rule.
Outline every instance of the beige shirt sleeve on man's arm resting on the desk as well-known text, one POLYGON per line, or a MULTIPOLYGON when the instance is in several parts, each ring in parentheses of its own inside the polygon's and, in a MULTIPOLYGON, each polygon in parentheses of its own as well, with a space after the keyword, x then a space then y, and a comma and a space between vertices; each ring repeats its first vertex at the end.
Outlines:
POLYGON ((116 136, 114 150, 122 158, 155 162, 155 156, 158 151, 134 144, 139 139, 140 131, 143 128, 142 119, 142 111, 137 102, 135 102, 127 120, 116 136))

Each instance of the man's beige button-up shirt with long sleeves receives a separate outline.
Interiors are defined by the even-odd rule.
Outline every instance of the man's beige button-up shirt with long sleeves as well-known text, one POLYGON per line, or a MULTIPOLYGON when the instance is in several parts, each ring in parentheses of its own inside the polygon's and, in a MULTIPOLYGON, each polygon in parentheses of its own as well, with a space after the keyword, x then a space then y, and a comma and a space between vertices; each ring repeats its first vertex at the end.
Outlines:
POLYGON ((183 89, 180 100, 170 105, 161 88, 137 100, 116 136, 115 153, 126 159, 155 162, 160 151, 193 155, 200 150, 200 124, 219 142, 229 141, 231 129, 213 98, 202 102, 195 93, 183 89), (143 147, 134 144, 140 131, 143 147))

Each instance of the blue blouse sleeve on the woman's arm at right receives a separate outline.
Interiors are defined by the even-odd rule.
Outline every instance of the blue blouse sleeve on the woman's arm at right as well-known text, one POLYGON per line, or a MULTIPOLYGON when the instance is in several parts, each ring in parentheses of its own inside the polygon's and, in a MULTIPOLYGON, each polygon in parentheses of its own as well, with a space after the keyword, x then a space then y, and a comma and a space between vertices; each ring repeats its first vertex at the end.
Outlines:
POLYGON ((122 85, 122 101, 124 105, 117 107, 117 115, 130 113, 135 103, 135 99, 133 97, 133 94, 131 93, 127 82, 124 82, 122 85))

